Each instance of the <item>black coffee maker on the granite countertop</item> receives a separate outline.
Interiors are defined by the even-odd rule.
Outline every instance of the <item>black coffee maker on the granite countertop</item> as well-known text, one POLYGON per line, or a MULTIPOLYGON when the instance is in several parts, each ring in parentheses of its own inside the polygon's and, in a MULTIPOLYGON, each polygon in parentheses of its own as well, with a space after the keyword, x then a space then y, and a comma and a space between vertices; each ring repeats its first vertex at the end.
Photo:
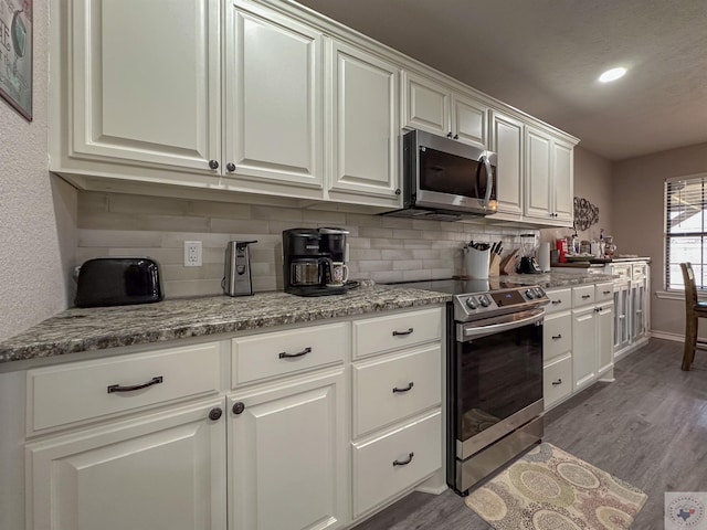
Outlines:
POLYGON ((331 284, 335 264, 346 259, 344 229, 291 229, 283 232, 283 278, 285 292, 299 296, 346 293, 331 284))

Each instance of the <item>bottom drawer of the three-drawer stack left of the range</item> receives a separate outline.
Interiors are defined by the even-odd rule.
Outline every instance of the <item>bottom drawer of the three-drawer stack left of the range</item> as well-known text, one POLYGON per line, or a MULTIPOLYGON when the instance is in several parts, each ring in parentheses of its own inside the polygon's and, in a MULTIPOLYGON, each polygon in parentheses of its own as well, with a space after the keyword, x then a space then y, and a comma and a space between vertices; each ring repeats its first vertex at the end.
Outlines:
POLYGON ((354 518, 442 466, 441 415, 435 411, 392 433, 354 444, 354 518))

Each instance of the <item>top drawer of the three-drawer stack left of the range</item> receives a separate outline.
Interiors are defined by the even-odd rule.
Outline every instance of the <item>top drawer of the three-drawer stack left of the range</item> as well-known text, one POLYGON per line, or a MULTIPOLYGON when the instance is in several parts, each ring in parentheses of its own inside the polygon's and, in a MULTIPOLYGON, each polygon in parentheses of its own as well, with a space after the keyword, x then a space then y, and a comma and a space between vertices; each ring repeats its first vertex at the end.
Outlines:
POLYGON ((361 358, 442 337, 442 309, 425 309, 354 322, 354 357, 361 358))

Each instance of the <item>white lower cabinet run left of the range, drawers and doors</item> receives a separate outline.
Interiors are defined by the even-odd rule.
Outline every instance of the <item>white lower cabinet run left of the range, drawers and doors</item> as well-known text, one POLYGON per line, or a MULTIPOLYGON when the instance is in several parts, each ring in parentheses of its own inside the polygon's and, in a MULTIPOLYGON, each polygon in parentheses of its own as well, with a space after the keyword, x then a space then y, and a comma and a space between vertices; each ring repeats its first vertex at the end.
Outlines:
POLYGON ((0 377, 22 410, 0 500, 24 491, 27 530, 348 528, 442 468, 442 322, 391 311, 0 377))

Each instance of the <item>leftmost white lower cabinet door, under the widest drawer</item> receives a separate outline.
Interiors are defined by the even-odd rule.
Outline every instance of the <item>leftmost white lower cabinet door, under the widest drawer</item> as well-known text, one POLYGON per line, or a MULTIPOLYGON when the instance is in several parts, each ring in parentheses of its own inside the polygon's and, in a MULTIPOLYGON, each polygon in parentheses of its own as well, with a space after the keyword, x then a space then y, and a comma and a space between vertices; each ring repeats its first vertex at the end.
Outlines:
POLYGON ((34 530, 224 530, 223 399, 25 446, 34 530))

